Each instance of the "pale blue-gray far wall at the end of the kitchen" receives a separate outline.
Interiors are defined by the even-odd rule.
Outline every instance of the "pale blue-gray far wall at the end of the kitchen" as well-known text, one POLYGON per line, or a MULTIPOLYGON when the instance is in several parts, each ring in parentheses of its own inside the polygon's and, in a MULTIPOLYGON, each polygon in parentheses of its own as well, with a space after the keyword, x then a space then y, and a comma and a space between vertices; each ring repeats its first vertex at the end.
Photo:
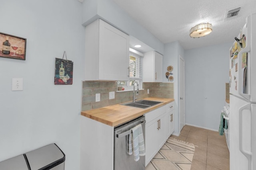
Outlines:
POLYGON ((232 43, 185 51, 186 123, 218 130, 232 43))

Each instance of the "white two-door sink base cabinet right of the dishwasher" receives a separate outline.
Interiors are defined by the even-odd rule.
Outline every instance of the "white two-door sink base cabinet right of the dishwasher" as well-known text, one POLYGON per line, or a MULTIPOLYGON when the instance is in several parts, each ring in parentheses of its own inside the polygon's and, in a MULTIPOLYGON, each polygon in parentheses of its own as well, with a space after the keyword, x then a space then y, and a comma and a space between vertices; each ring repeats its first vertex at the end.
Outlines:
POLYGON ((145 118, 145 165, 147 165, 166 142, 166 107, 146 113, 145 118))

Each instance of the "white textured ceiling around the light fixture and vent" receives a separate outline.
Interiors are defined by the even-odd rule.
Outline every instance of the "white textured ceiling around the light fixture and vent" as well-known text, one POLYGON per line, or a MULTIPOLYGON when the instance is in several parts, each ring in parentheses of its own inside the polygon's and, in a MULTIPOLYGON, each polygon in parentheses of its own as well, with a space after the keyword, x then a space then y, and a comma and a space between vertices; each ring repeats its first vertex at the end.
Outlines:
POLYGON ((193 49, 234 41, 256 12, 256 0, 113 0, 134 20, 162 43, 179 41, 184 49, 193 49), (225 19, 229 10, 241 8, 238 16, 225 19), (201 38, 189 36, 198 23, 212 23, 212 33, 201 38))

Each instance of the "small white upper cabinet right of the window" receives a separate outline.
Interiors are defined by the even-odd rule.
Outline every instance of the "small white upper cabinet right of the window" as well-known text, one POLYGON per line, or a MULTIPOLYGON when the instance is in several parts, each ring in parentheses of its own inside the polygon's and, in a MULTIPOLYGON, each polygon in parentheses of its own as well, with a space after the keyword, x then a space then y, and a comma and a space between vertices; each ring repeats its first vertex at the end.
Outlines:
POLYGON ((163 55, 156 51, 144 53, 143 82, 163 82, 163 55))

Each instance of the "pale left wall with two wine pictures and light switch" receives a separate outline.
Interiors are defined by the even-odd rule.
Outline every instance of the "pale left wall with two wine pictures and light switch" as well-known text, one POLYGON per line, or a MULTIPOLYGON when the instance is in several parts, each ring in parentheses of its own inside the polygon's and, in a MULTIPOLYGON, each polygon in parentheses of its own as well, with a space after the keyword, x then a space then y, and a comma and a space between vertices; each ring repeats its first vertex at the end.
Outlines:
POLYGON ((81 80, 84 77, 82 4, 76 0, 6 0, 0 32, 27 39, 26 61, 0 58, 0 161, 50 143, 80 165, 81 80), (55 57, 74 62, 73 85, 54 85, 55 57), (11 91, 12 78, 24 79, 11 91))

